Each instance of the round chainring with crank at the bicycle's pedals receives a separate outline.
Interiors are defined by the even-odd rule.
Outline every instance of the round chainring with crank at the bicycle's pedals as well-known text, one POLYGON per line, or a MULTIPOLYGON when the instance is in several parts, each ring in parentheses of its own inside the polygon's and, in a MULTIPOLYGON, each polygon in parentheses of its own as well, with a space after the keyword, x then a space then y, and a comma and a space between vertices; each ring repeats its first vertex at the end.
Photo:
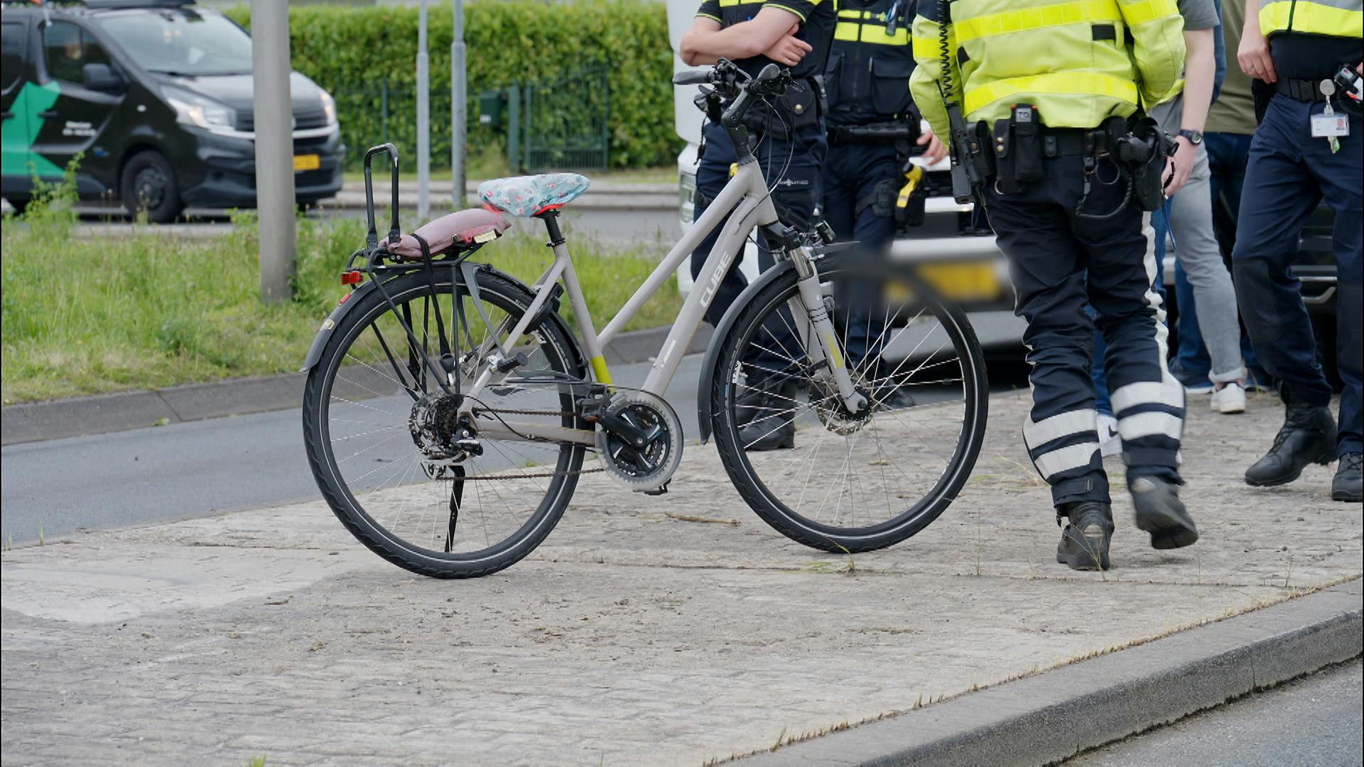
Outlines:
POLYGON ((633 426, 656 430, 656 434, 648 444, 636 446, 599 429, 597 456, 606 474, 640 493, 667 484, 682 463, 682 422, 672 405, 648 392, 622 389, 611 397, 607 412, 633 426))

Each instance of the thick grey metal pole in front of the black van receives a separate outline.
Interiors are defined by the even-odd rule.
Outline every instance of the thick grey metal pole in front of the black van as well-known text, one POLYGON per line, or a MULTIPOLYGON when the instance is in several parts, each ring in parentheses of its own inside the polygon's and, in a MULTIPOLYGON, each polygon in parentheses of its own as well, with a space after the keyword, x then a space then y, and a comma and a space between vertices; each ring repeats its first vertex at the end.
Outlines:
POLYGON ((289 298, 296 248, 288 4, 251 0, 251 38, 261 300, 278 303, 289 298))

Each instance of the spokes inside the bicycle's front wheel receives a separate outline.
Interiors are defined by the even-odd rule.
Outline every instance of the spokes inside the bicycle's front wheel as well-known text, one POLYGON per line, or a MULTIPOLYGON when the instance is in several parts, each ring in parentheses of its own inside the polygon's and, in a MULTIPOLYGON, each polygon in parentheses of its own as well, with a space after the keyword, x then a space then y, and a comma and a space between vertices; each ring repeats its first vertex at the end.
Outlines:
POLYGON ((951 500, 944 478, 963 460, 966 405, 978 396, 975 377, 967 374, 968 341, 944 322, 947 310, 884 298, 883 270, 858 283, 822 262, 820 269, 821 292, 835 300, 835 352, 866 397, 865 409, 848 409, 829 366, 791 353, 792 344, 814 343, 810 328, 787 317, 794 278, 786 292, 762 298, 761 314, 745 315, 743 334, 727 358, 731 367, 720 373, 732 382, 730 429, 742 431, 724 444, 746 465, 731 476, 756 480, 761 498, 780 510, 773 521, 779 530, 788 532, 782 520, 797 520, 801 535, 788 535, 825 540, 820 547, 831 550, 858 531, 870 536, 926 508, 934 516, 941 510, 951 500), (768 328, 784 328, 784 334, 768 328), (779 434, 791 437, 777 441, 779 434))

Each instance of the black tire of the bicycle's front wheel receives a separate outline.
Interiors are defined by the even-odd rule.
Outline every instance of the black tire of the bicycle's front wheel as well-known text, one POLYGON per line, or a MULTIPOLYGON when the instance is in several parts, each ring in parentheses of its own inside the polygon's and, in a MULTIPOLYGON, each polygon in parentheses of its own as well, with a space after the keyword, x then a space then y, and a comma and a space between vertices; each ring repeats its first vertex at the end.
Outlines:
MULTIPOLYGON (((854 263, 865 265, 857 255, 832 255, 817 262, 821 281, 835 278, 840 270, 854 263)), ((735 411, 735 371, 745 338, 752 337, 756 328, 788 298, 797 295, 797 274, 794 269, 772 280, 756 292, 749 303, 735 310, 731 323, 719 351, 715 377, 709 382, 711 414, 716 449, 730 480, 739 495, 765 523, 787 538, 829 553, 859 553, 893 546, 918 534, 932 524, 956 498, 970 478, 985 439, 986 416, 989 412, 989 382, 985 356, 966 314, 956 306, 945 303, 932 289, 921 285, 919 298, 928 310, 941 323, 951 337, 959 358, 963 360, 963 429, 953 446, 953 454, 933 489, 902 513, 883 523, 866 527, 842 527, 822 524, 794 512, 757 475, 747 452, 739 442, 741 422, 735 411)), ((797 433, 799 434, 799 431, 797 433)))

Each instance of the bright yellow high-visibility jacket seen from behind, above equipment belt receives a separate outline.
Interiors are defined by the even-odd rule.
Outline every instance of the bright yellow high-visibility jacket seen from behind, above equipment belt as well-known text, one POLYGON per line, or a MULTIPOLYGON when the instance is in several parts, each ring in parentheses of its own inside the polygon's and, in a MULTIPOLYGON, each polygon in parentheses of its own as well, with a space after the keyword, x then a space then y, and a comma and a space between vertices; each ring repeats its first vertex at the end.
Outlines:
POLYGON ((1174 0, 952 0, 952 93, 944 94, 940 8, 938 0, 919 1, 919 66, 910 91, 944 139, 944 96, 970 121, 998 120, 1015 104, 1033 104, 1043 124, 1093 128, 1157 104, 1184 68, 1184 19, 1174 0))

